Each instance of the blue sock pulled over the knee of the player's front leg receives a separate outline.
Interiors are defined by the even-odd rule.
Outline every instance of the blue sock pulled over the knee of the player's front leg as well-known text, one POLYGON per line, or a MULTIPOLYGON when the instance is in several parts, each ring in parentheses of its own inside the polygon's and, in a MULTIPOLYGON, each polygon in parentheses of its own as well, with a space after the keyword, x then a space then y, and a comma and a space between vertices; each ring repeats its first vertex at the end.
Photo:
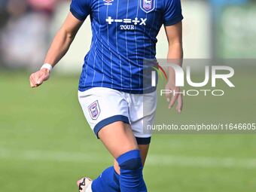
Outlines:
POLYGON ((117 158, 117 162, 120 166, 120 190, 122 192, 147 192, 139 150, 122 154, 117 158))

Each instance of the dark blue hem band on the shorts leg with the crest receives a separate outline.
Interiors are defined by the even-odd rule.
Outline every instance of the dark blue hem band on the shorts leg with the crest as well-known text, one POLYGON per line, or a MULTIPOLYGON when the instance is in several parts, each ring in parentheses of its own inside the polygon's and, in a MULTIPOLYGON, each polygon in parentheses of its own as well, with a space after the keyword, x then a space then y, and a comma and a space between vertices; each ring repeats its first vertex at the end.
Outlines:
POLYGON ((104 126, 107 126, 107 125, 117 122, 117 121, 123 121, 124 123, 130 123, 128 117, 123 116, 123 115, 114 115, 112 117, 106 118, 105 120, 99 121, 99 123, 97 123, 93 129, 97 138, 99 139, 98 133, 104 126))

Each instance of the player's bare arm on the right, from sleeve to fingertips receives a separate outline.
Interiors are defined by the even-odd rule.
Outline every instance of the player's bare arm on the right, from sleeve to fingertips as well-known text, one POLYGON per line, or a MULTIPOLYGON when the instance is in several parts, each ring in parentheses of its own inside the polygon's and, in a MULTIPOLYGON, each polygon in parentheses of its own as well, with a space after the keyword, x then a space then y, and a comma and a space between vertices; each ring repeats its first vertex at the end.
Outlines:
MULTIPOLYGON (((183 47, 182 47, 182 23, 176 23, 172 26, 165 26, 166 37, 168 39, 169 49, 167 59, 169 63, 182 66, 183 47)), ((172 90, 175 94, 166 94, 169 108, 172 108, 177 103, 176 110, 181 113, 183 107, 182 95, 178 93, 179 87, 175 86, 175 72, 172 67, 169 67, 169 79, 166 84, 166 90, 172 90)))

